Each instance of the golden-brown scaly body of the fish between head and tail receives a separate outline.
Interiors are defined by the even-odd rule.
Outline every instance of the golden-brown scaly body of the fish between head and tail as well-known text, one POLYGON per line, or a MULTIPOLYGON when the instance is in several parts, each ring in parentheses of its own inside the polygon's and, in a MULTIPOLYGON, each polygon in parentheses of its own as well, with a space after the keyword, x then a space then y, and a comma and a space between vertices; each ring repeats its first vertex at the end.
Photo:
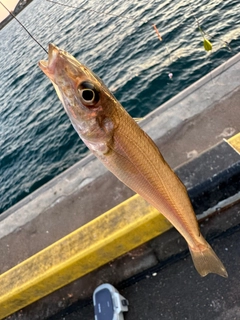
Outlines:
MULTIPOLYGON (((177 221, 179 223, 181 212, 185 212, 186 215, 186 208, 191 208, 189 198, 185 195, 179 201, 181 194, 186 193, 185 187, 165 162, 155 143, 135 121, 126 112, 120 119, 124 121, 120 122, 113 133, 112 152, 99 157, 100 160, 122 182, 160 212, 169 212, 168 220, 173 225, 177 221)), ((191 213, 187 215, 192 223, 191 230, 186 230, 188 226, 184 215, 182 215, 184 223, 179 225, 178 230, 181 234, 199 233, 194 215, 191 213)), ((189 242, 192 242, 192 237, 189 237, 189 242)))

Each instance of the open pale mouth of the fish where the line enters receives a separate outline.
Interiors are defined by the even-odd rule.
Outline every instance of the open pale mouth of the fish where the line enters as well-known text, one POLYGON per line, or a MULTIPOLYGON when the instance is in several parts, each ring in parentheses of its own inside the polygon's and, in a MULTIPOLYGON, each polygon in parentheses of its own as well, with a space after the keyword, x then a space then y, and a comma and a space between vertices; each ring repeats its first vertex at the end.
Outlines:
POLYGON ((57 58, 59 57, 60 49, 53 43, 49 43, 48 47, 48 60, 40 60, 38 65, 40 69, 53 80, 54 67, 56 65, 57 58))

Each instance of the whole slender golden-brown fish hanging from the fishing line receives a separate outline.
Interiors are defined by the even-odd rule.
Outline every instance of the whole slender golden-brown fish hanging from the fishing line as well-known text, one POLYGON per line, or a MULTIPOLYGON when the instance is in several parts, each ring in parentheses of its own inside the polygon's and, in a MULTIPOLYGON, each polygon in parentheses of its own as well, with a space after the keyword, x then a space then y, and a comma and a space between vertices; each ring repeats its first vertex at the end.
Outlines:
POLYGON ((187 241, 201 276, 227 271, 200 233, 184 184, 103 81, 68 52, 49 44, 40 69, 82 141, 120 181, 162 213, 187 241))

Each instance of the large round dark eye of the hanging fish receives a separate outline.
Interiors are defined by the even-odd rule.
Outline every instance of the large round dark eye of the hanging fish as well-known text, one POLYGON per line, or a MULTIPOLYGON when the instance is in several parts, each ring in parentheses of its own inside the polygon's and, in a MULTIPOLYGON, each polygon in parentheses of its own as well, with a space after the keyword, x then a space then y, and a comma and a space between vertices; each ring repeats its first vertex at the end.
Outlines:
POLYGON ((99 90, 90 81, 80 83, 78 92, 82 103, 87 107, 94 107, 100 99, 99 90))

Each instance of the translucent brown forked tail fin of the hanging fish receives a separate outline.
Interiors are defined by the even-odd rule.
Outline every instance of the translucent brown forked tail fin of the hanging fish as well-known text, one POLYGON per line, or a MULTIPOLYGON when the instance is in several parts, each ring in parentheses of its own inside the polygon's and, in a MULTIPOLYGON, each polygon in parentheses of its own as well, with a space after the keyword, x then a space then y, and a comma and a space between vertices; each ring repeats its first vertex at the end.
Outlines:
POLYGON ((209 273, 216 273, 225 278, 228 277, 224 265, 202 236, 201 244, 196 246, 196 248, 191 248, 189 246, 189 250, 194 266, 202 277, 205 277, 209 273))

